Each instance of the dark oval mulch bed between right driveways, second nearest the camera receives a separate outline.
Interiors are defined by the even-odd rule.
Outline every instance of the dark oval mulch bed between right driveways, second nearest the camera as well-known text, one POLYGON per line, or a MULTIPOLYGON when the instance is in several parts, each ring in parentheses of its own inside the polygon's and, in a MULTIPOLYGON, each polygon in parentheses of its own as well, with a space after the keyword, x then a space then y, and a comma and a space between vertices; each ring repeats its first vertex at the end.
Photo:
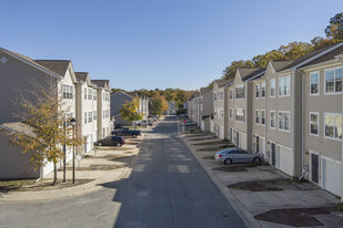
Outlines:
POLYGON ((233 185, 228 185, 228 188, 234 188, 240 190, 250 190, 250 191, 276 191, 283 190, 278 187, 275 183, 266 183, 266 182, 244 182, 236 183, 233 185))

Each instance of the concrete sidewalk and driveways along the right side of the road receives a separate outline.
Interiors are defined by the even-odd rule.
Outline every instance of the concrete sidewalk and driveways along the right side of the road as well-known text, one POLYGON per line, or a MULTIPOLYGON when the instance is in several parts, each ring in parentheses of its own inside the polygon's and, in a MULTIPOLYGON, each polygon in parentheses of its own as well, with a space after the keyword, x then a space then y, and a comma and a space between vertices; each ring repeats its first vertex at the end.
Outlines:
MULTIPOLYGON (((335 196, 322 190, 311 183, 284 185, 284 189, 278 191, 251 191, 229 188, 229 185, 238 183, 289 179, 290 177, 275 169, 273 166, 246 167, 244 165, 231 165, 230 168, 234 169, 236 167, 238 170, 228 172, 225 170, 228 166, 211 159, 211 157, 214 156, 215 151, 202 151, 202 148, 206 148, 209 145, 193 145, 196 143, 214 142, 215 139, 206 139, 205 135, 192 136, 190 134, 183 134, 181 135, 181 138, 212 178, 214 184, 221 189, 230 204, 242 216, 243 220, 246 221, 248 227, 290 227, 256 220, 254 218, 254 216, 272 209, 332 207, 340 203, 340 199, 335 196), (203 139, 198 141, 199 138, 203 139)), ((315 215, 313 217, 325 227, 343 227, 342 213, 315 215)))

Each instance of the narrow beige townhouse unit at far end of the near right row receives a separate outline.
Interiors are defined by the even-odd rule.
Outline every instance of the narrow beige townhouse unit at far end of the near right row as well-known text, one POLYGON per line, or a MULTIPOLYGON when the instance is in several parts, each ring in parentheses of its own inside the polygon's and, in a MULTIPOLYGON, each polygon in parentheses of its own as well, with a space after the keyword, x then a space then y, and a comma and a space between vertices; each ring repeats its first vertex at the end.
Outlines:
POLYGON ((224 139, 224 108, 225 108, 225 85, 230 83, 229 80, 215 80, 213 84, 213 118, 211 120, 210 129, 218 137, 224 139))

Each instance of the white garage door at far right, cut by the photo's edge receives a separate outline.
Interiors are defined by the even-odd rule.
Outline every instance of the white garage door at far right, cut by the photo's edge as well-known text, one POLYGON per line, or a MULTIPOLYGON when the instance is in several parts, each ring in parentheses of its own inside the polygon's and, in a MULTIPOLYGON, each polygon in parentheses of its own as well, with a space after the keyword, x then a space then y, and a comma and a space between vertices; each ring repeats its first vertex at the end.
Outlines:
POLYGON ((322 158, 322 188, 341 195, 341 166, 322 158))

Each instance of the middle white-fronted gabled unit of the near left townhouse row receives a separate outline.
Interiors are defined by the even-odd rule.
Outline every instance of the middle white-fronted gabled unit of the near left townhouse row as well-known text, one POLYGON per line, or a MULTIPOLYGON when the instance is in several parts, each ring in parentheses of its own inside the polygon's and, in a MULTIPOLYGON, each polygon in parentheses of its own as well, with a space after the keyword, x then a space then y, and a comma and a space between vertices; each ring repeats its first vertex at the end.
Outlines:
POLYGON ((77 84, 77 120, 82 122, 78 127, 78 136, 83 139, 82 153, 93 149, 98 141, 98 85, 91 83, 89 73, 75 72, 77 84))

